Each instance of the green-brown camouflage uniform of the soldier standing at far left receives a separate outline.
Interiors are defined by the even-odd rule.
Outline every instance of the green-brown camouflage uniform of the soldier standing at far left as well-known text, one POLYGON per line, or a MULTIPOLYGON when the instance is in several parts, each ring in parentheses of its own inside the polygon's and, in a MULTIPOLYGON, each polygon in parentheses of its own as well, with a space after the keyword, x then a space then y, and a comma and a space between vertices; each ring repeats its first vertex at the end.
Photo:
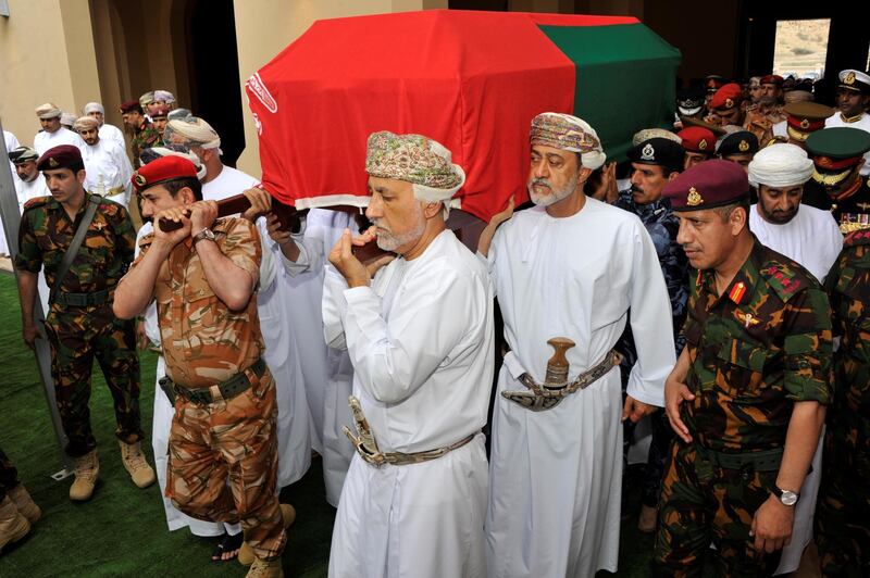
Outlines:
MULTIPOLYGON (((57 269, 87 204, 86 197, 73 222, 51 197, 28 201, 21 217, 15 267, 36 274, 45 266, 46 281, 53 287, 57 269)), ((115 435, 125 443, 136 443, 144 437, 133 322, 120 321, 112 313, 114 287, 133 260, 135 246, 136 233, 127 211, 113 201, 101 200, 63 278, 59 298, 49 305, 46 316, 58 411, 70 441, 66 452, 74 457, 97 447, 88 409, 95 356, 114 400, 115 435), (96 302, 67 303, 70 293, 78 293, 76 297, 87 293, 96 302)))

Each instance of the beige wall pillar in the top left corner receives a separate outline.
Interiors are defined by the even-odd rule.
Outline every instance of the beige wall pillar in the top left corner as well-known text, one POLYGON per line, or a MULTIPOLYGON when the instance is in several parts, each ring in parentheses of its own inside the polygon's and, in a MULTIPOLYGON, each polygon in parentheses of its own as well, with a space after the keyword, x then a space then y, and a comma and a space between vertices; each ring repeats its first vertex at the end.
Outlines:
POLYGON ((99 97, 88 0, 9 0, 0 17, 0 117, 23 144, 39 130, 34 109, 78 113, 99 97))

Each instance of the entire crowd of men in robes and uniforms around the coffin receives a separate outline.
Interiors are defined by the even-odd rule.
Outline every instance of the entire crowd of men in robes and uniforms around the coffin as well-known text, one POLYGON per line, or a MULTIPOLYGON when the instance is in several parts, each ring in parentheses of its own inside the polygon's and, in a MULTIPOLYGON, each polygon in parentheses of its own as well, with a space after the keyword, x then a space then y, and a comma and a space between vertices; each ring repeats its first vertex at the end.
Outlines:
MULTIPOLYGON (((531 205, 511 200, 476 254, 448 226, 465 173, 426 136, 369 137, 365 219, 289 222, 166 91, 122 105, 130 158, 100 104, 72 130, 37 108, 34 147, 10 147, 14 265, 70 498, 99 478, 96 357, 134 483, 158 480, 170 529, 221 536, 213 557, 248 576, 283 575, 277 495, 312 448, 338 508, 331 576, 617 571, 642 420, 652 575, 870 575, 870 76, 838 80, 834 109, 776 75, 708 77, 621 165, 588 123, 542 112, 531 205), (159 353, 157 472, 137 342, 159 353)), ((40 515, 2 452, 0 497, 2 548, 40 515)))

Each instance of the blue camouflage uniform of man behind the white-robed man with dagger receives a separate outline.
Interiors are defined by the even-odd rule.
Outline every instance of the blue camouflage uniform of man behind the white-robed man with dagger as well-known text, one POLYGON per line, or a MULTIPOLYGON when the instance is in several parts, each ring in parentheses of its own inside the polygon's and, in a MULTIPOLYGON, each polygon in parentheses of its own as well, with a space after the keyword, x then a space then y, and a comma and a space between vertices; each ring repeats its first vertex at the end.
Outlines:
MULTIPOLYGON (((676 234, 680 229, 680 221, 671 210, 670 201, 659 199, 658 201, 638 205, 635 204, 631 189, 620 192, 614 203, 620 209, 637 215, 646 227, 652 244, 656 247, 656 254, 659 257, 661 273, 664 275, 664 284, 668 286, 668 296, 671 300, 671 314, 673 316, 674 344, 676 356, 685 347, 685 337, 681 329, 686 318, 686 303, 688 301, 688 259, 683 248, 676 243, 676 234)), ((631 314, 631 313, 630 313, 631 314)), ((631 326, 625 326, 625 332, 617 344, 617 350, 622 353, 620 372, 622 373, 623 390, 629 382, 631 369, 637 361, 637 351, 634 345, 631 326)), ((659 489, 664 472, 664 458, 668 448, 673 439, 673 431, 668 424, 664 412, 657 412, 650 417, 652 420, 652 440, 649 447, 649 457, 647 470, 644 475, 643 503, 655 507, 659 500, 659 489)), ((624 443, 631 442, 634 424, 625 420, 624 443)), ((627 452, 627 448, 626 448, 627 452)))

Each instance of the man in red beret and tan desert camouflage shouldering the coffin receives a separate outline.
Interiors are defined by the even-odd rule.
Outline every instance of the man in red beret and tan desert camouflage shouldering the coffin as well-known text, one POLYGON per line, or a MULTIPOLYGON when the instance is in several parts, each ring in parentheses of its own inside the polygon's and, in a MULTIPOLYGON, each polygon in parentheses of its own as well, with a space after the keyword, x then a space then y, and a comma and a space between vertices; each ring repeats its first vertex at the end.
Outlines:
POLYGON ((248 576, 283 576, 282 518, 293 511, 275 491, 277 406, 254 293, 259 234, 245 218, 215 221, 216 204, 201 200, 187 159, 152 161, 133 183, 144 216, 182 224, 142 237, 114 302, 122 318, 157 302, 165 390, 175 405, 166 497, 195 518, 240 522, 256 555, 248 576))

